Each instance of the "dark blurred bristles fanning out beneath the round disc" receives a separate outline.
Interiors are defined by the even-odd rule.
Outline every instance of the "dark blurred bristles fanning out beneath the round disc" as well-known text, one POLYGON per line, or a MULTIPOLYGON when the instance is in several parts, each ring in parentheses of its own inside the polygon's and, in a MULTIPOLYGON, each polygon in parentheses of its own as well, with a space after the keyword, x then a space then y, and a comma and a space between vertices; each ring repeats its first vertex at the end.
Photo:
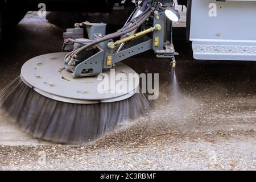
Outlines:
POLYGON ((0 93, 0 107, 35 138, 82 144, 100 138, 121 121, 146 114, 150 103, 140 93, 118 102, 69 104, 40 95, 18 77, 0 93))

